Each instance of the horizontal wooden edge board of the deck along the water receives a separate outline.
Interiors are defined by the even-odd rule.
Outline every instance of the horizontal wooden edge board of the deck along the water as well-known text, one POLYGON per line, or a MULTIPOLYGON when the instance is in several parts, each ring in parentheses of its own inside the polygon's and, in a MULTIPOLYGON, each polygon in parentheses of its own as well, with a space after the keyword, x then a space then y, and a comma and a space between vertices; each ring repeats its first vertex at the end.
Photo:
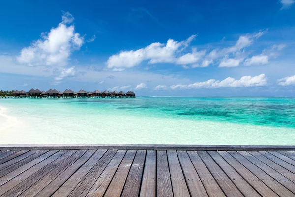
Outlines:
POLYGON ((204 150, 204 151, 295 151, 295 146, 259 145, 170 145, 170 144, 3 144, 0 150, 204 150))

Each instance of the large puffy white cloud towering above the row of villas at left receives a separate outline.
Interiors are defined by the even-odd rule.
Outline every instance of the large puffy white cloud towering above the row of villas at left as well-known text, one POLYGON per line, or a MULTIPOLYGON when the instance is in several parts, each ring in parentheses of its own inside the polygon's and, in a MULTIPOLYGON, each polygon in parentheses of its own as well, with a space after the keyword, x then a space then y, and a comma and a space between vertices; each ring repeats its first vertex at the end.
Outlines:
POLYGON ((75 33, 73 16, 63 12, 62 22, 49 33, 41 33, 41 38, 21 50, 18 61, 29 66, 47 65, 64 66, 72 51, 80 49, 84 38, 75 33))

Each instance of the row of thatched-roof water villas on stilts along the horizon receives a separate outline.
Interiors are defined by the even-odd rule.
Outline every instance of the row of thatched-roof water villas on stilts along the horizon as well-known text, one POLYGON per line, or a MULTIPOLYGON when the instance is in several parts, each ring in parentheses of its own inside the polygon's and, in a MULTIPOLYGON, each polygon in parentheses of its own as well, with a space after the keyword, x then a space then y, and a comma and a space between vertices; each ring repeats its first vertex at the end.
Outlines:
POLYGON ((78 92, 74 92, 71 89, 66 89, 65 91, 57 91, 56 89, 48 90, 48 91, 40 91, 39 89, 34 90, 33 88, 29 90, 29 92, 25 92, 24 90, 21 91, 14 91, 12 93, 12 96, 15 98, 24 98, 24 97, 30 97, 30 98, 134 98, 135 93, 132 91, 128 92, 109 92, 107 90, 100 92, 99 90, 95 90, 93 92, 86 92, 85 90, 79 90, 78 92))

